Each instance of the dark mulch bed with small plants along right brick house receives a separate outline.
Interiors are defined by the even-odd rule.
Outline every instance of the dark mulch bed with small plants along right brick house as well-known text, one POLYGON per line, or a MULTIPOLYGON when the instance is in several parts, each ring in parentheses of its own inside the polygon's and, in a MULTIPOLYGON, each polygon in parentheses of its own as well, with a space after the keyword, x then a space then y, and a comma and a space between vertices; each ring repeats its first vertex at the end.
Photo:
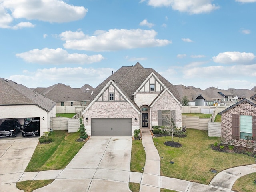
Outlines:
POLYGON ((234 146, 232 150, 229 150, 228 145, 224 144, 224 149, 220 148, 220 144, 218 146, 211 145, 211 148, 215 151, 224 152, 224 153, 239 153, 239 154, 246 154, 248 156, 256 157, 256 152, 252 153, 252 148, 241 147, 241 146, 234 146))

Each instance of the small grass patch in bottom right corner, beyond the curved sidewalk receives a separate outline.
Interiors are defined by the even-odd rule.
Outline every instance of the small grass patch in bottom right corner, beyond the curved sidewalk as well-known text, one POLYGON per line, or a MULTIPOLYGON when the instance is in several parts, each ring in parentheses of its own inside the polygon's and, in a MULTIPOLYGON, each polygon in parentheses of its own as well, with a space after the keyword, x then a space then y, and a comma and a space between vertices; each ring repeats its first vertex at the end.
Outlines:
POLYGON ((251 173, 245 176, 242 176, 236 180, 232 190, 237 192, 252 192, 256 190, 256 184, 254 183, 256 179, 256 173, 251 173))

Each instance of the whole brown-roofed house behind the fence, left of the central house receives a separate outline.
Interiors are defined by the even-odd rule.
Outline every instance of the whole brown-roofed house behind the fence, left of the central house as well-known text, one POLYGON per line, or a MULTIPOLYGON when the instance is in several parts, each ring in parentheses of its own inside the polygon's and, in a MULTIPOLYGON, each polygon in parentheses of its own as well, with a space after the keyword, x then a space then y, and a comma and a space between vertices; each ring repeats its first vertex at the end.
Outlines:
POLYGON ((56 102, 56 106, 88 106, 94 88, 84 85, 82 88, 71 88, 58 83, 47 88, 35 88, 34 91, 56 102))

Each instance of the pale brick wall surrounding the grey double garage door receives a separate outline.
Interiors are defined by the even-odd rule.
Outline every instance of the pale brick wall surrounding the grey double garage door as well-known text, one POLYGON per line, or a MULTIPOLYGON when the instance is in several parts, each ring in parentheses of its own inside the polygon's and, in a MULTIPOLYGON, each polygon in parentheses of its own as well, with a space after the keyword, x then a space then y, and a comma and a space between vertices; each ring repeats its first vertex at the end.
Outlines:
POLYGON ((132 134, 139 129, 140 116, 128 102, 94 102, 84 114, 84 126, 91 136, 91 118, 132 118, 132 134), (88 117, 88 122, 85 122, 88 117), (134 119, 137 118, 137 122, 134 119))

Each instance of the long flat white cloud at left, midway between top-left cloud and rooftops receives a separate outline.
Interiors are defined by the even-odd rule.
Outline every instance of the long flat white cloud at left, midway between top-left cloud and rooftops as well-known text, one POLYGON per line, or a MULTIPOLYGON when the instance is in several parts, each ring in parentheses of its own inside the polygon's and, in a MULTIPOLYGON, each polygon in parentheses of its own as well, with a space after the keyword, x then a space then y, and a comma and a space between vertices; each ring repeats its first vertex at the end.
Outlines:
POLYGON ((44 48, 42 50, 33 49, 28 52, 18 53, 16 56, 22 58, 26 62, 39 64, 91 64, 104 59, 102 55, 88 56, 86 54, 78 53, 69 54, 66 50, 61 48, 44 48))

